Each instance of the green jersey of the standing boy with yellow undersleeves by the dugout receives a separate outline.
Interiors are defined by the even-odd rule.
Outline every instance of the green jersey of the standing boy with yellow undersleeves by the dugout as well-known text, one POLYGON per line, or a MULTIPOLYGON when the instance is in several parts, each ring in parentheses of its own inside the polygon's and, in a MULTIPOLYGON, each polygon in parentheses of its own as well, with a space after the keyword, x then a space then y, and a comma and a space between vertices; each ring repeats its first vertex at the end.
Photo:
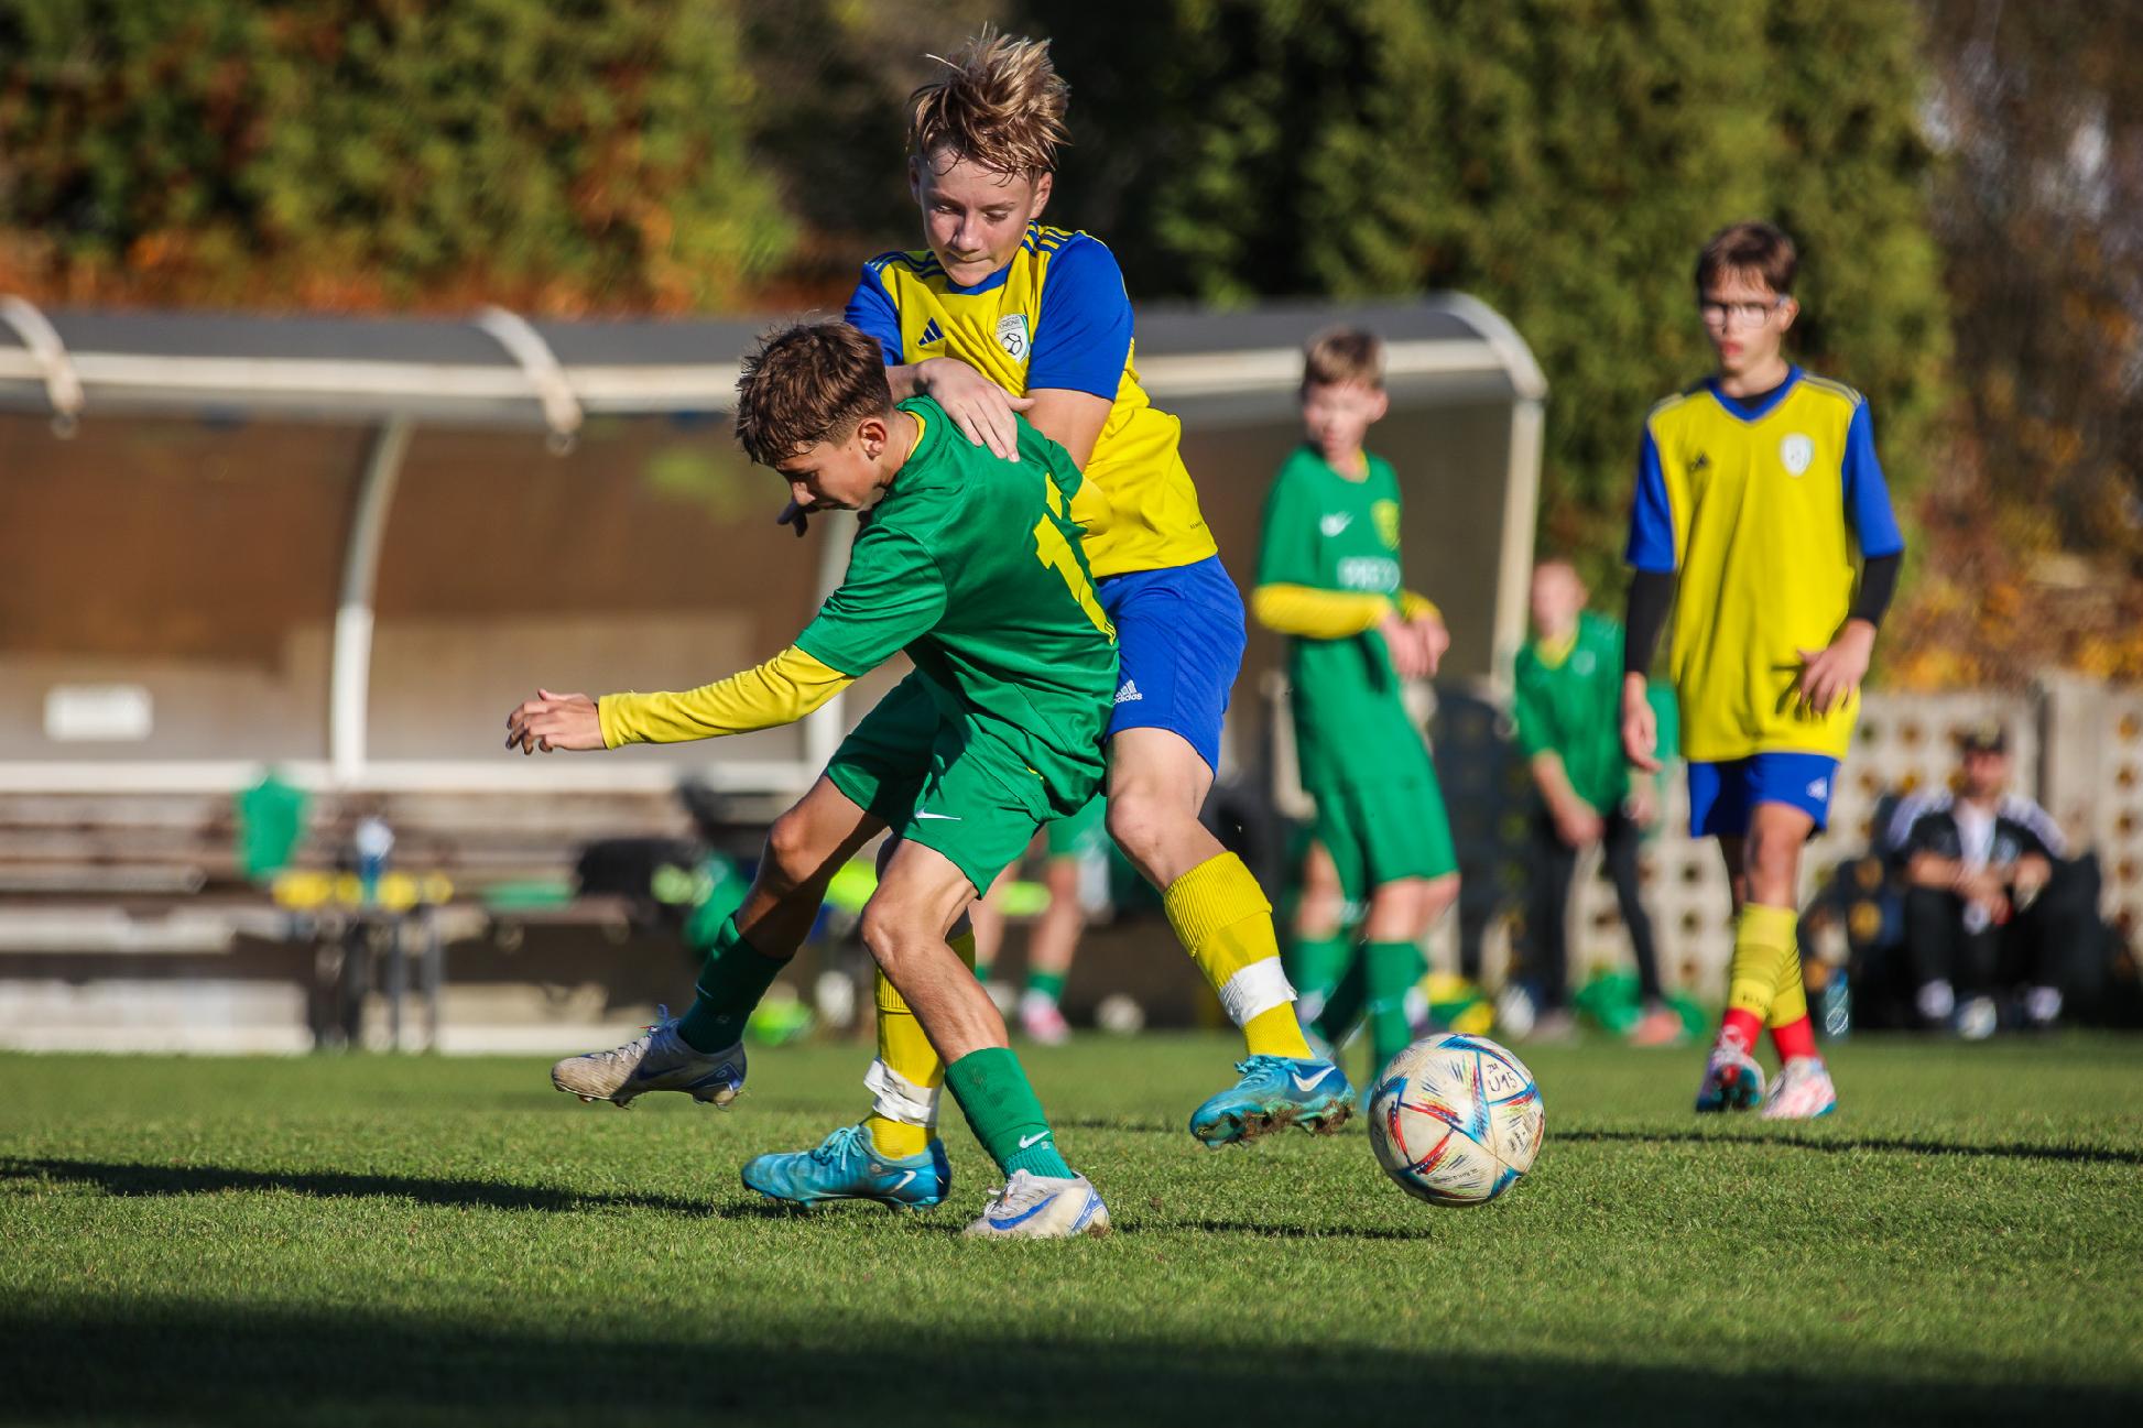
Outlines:
MULTIPOLYGON (((1361 480, 1299 446, 1264 500, 1260 585, 1307 585, 1399 598, 1399 478, 1367 457, 1361 480)), ((1303 783, 1427 778, 1421 731, 1406 712, 1391 652, 1376 630, 1288 639, 1303 783)))

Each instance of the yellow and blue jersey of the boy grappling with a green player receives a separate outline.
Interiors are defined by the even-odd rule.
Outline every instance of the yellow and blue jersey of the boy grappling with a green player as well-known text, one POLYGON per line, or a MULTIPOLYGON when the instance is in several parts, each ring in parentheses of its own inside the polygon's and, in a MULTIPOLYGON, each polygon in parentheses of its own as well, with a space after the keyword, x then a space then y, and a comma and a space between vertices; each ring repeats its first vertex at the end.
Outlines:
POLYGON ((1132 298, 1099 238, 1031 223, 1011 264, 960 287, 928 249, 864 264, 846 317, 898 367, 960 358, 1016 397, 1061 388, 1112 407, 1072 519, 1095 577, 1189 566, 1219 547, 1179 450, 1183 425, 1147 401, 1134 367, 1132 298))

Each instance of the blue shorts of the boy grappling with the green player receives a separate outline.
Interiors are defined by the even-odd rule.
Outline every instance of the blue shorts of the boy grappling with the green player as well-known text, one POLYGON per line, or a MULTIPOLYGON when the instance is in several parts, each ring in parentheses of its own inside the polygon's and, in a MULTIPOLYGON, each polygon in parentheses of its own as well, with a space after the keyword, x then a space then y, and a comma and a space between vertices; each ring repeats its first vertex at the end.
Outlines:
POLYGON ((1194 566, 1132 570, 1095 581, 1117 622, 1117 710, 1125 729, 1181 733, 1219 772, 1219 723, 1243 671, 1243 596, 1219 555, 1194 566))

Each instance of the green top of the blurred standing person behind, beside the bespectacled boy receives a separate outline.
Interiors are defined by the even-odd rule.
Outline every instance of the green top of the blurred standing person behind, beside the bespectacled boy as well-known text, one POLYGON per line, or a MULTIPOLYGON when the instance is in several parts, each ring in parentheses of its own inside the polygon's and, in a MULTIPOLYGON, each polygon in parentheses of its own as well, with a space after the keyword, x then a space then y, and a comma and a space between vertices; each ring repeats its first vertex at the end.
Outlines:
MULTIPOLYGON (((1562 772, 1577 798, 1597 813, 1609 813, 1629 798, 1629 759, 1622 755, 1622 626, 1605 615, 1577 615, 1577 637, 1569 650, 1549 652, 1528 641, 1517 652, 1513 716, 1517 746, 1528 759, 1543 753, 1562 757, 1562 772)), ((1652 686, 1659 753, 1674 753, 1674 699, 1663 684, 1652 686)))

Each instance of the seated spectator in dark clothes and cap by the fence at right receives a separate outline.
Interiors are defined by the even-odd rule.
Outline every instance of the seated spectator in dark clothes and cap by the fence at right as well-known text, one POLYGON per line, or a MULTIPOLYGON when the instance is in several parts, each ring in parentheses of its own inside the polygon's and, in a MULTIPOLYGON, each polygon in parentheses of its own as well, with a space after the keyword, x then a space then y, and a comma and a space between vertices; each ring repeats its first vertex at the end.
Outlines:
POLYGON ((2008 1010, 2049 1027, 2096 913, 2089 879, 2062 862, 2066 843, 2047 810, 2008 793, 1999 725, 1965 735, 1961 772, 1954 793, 1901 802, 1888 830, 1903 853, 1905 965, 1920 1023, 1982 1038, 2008 1010))

